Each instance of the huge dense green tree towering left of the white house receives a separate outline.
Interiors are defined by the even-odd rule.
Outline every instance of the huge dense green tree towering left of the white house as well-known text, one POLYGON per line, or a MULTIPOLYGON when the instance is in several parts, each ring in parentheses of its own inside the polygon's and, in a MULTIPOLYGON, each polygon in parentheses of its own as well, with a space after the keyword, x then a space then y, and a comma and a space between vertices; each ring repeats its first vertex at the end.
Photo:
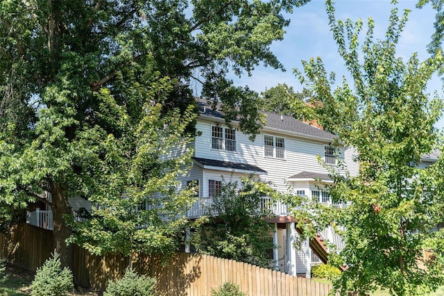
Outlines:
MULTIPOLYGON (((36 200, 50 204, 56 250, 71 265, 69 197, 88 198, 98 205, 96 215, 108 215, 95 220, 92 230, 103 232, 90 238, 119 236, 118 242, 132 233, 134 222, 124 231, 114 224, 133 215, 128 201, 162 189, 173 198, 164 207, 187 204, 169 181, 162 183, 186 161, 162 156, 174 140, 189 141, 182 135, 192 133, 193 88, 221 101, 225 114, 254 134, 255 96, 225 76, 249 74, 259 63, 282 69, 269 45, 289 24, 282 13, 305 2, 0 1, 1 213, 36 200), (44 190, 51 201, 41 198, 44 190)), ((137 219, 146 229, 160 223, 151 212, 137 219)), ((168 232, 160 231, 157 242, 168 232)), ((86 235, 77 241, 96 252, 117 247, 103 245, 112 239, 87 242, 86 235)))

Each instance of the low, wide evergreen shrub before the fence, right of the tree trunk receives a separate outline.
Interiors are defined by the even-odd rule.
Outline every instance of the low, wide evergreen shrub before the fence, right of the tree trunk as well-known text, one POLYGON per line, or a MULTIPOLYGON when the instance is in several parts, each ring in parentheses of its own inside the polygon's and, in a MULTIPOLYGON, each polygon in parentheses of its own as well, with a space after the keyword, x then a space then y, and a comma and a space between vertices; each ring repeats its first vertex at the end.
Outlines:
POLYGON ((108 281, 103 296, 152 296, 154 285, 155 279, 145 274, 139 275, 127 268, 123 278, 108 281))

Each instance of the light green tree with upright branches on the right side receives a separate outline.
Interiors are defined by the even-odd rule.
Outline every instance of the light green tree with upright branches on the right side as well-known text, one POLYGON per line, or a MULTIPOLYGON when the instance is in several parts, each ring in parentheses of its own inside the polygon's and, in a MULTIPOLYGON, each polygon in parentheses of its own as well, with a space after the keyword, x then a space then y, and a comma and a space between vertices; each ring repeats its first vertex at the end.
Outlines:
POLYGON ((352 81, 344 78, 334 86, 321 58, 303 62, 304 73, 297 72, 322 102, 319 122, 357 149, 358 176, 340 174, 343 163, 330 167, 335 181, 330 195, 349 206, 317 207, 315 225, 345 227, 345 249, 330 257, 348 265, 334 283, 343 294, 387 288, 396 295, 417 295, 444 283, 442 233, 432 232, 444 220, 443 160, 422 163, 442 149, 434 124, 443 100, 427 93, 427 81, 443 58, 438 52, 421 62, 416 54, 408 60, 396 54, 408 13, 398 15, 394 5, 384 39, 375 40, 371 18, 361 38, 361 19, 336 21, 327 1, 330 28, 352 81), (432 260, 422 256, 424 249, 433 249, 432 260))

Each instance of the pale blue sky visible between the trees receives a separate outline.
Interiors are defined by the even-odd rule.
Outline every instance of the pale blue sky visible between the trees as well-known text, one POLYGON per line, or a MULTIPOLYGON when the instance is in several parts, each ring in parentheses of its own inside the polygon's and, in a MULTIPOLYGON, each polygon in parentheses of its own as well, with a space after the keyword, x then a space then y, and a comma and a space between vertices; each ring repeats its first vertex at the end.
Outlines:
MULTIPOLYGON (((336 0, 336 19, 361 18, 366 23, 368 17, 372 17, 375 21, 375 36, 384 38, 388 16, 393 7, 390 2, 389 0, 336 0)), ((400 11, 404 8, 412 10, 398 44, 398 54, 405 60, 414 52, 418 53, 420 60, 428 57, 426 46, 434 30, 434 10, 429 6, 419 10, 415 8, 416 3, 417 0, 398 2, 400 11)), ((336 77, 347 74, 328 26, 324 0, 311 0, 305 6, 295 9, 289 18, 291 24, 287 27, 284 40, 275 42, 271 47, 287 72, 269 67, 257 67, 250 77, 246 75, 241 79, 234 77, 236 85, 248 85, 250 89, 262 92, 278 83, 287 83, 295 90, 302 90, 302 85, 293 75, 293 68, 301 69, 301 60, 318 56, 323 59, 327 72, 335 72, 336 77)), ((366 32, 366 28, 363 32, 366 32)), ((440 95, 443 93, 441 80, 437 76, 430 81, 428 90, 431 93, 438 91, 440 95)), ((436 126, 443 128, 444 120, 438 122, 436 126)))

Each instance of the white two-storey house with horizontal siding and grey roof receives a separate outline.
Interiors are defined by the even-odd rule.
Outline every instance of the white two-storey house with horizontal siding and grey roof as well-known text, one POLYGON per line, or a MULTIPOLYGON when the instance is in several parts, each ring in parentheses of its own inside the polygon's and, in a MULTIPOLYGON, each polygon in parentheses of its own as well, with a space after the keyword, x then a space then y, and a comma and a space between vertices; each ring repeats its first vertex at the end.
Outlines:
MULTIPOLYGON (((199 200, 189 211, 189 218, 203 215, 203 205, 211 204, 223 178, 237 181, 246 173, 254 174, 264 181, 271 181, 280 192, 289 192, 290 185, 297 195, 332 204, 327 193, 319 187, 319 179, 323 183, 332 183, 332 179, 318 157, 327 165, 336 165, 336 158, 344 158, 350 174, 358 172, 357 163, 352 161, 355 149, 340 146, 336 151, 332 146, 336 136, 332 133, 293 117, 265 113, 264 128, 255 140, 250 141, 248 135, 239 131, 236 121, 226 126, 222 114, 213 110, 206 101, 199 100, 198 105, 200 112, 196 129, 200 135, 193 144, 194 166, 181 180, 182 188, 186 188, 190 182, 198 184, 199 200)), ((320 242, 316 246, 316 241, 310 243, 307 240, 305 245, 296 249, 293 242, 298 233, 289 208, 278 203, 273 206, 273 213, 277 215, 273 219, 273 240, 279 246, 273 256, 275 268, 309 277, 311 249, 319 253, 319 248, 325 249, 325 246, 320 246, 320 242)), ((325 233, 320 234, 324 239, 335 239, 341 243, 340 238, 331 231, 326 229, 325 233)))

